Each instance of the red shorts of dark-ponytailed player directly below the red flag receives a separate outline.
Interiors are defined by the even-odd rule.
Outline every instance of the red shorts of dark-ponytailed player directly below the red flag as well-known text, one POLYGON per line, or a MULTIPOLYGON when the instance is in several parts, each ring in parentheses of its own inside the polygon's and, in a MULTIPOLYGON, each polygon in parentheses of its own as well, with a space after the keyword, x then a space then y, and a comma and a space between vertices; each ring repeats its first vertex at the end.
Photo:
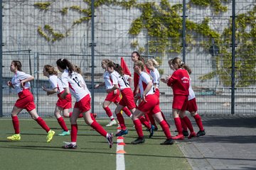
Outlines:
POLYGON ((136 108, 136 104, 134 103, 134 96, 132 94, 131 88, 126 88, 121 91, 122 99, 119 101, 119 105, 127 106, 129 110, 132 108, 136 108))

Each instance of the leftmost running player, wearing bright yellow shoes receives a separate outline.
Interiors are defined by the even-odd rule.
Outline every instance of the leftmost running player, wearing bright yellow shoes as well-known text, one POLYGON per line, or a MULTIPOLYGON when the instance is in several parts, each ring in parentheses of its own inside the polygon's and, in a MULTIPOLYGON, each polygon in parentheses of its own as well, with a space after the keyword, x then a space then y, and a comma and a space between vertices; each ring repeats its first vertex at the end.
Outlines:
POLYGON ((12 141, 21 140, 18 113, 20 113, 23 109, 26 109, 29 115, 31 115, 31 118, 36 120, 36 122, 41 125, 44 130, 46 130, 48 133, 46 142, 50 142, 53 140, 53 135, 55 132, 50 130, 48 125, 46 125, 46 122, 38 115, 38 113, 36 113, 36 106, 33 102, 33 94, 31 94, 31 91, 29 90, 31 88, 29 81, 32 81, 34 77, 23 72, 21 67, 20 61, 13 60, 11 62, 10 70, 14 73, 14 77, 11 79, 11 81, 7 81, 7 85, 14 88, 16 94, 18 94, 18 100, 14 104, 14 108, 11 111, 11 118, 14 125, 15 134, 7 137, 7 139, 12 141))

